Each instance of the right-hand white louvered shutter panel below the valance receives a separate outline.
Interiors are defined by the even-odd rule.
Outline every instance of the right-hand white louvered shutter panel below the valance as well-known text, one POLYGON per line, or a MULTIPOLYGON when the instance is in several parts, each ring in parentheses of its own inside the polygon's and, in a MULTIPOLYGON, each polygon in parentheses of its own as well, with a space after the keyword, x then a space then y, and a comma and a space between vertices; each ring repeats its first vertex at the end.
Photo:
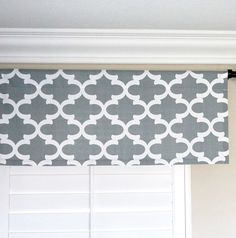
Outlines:
POLYGON ((92 170, 92 237, 172 237, 169 168, 92 170))

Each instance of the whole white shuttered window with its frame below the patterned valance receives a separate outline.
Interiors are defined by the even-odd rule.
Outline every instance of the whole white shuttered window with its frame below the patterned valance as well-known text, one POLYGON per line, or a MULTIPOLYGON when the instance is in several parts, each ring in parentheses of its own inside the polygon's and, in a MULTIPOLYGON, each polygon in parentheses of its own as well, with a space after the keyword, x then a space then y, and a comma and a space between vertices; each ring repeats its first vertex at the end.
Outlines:
POLYGON ((2 167, 1 238, 189 238, 187 166, 2 167))

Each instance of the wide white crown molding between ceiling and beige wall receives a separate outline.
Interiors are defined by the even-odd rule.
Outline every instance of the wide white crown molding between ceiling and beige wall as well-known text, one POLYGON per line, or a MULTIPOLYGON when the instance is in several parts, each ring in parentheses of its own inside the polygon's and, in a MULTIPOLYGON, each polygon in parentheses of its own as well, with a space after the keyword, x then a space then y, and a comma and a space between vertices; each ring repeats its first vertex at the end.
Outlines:
POLYGON ((236 31, 0 28, 0 63, 236 64, 236 31))

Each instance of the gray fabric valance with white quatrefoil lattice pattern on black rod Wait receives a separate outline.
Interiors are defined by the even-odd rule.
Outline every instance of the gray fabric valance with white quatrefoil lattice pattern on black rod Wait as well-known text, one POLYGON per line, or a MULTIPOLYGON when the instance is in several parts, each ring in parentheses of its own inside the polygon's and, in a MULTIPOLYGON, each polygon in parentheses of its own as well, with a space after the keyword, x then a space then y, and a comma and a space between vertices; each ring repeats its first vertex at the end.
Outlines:
POLYGON ((227 73, 0 70, 0 164, 228 162, 227 73))

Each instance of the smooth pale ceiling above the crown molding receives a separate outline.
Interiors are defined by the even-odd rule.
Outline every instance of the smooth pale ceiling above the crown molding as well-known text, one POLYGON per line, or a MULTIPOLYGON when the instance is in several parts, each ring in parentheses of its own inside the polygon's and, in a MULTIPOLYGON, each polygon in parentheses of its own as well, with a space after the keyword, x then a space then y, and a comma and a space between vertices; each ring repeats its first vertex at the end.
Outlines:
POLYGON ((0 0, 0 27, 236 30, 236 0, 0 0))

